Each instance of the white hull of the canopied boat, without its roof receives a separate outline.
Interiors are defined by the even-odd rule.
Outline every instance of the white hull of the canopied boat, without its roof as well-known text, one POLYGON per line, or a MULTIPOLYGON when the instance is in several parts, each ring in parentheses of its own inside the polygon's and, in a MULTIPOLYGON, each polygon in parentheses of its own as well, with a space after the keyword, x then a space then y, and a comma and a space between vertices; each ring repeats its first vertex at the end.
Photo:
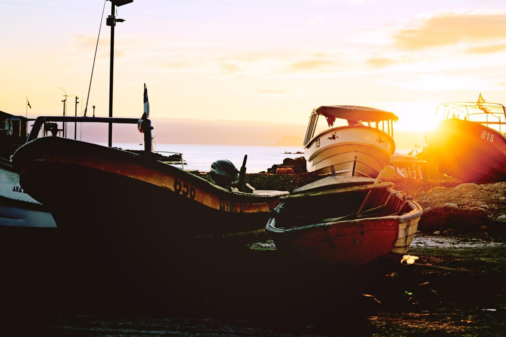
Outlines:
POLYGON ((308 172, 329 174, 333 164, 337 175, 376 178, 394 151, 394 140, 387 133, 354 125, 318 134, 304 149, 304 156, 308 172))

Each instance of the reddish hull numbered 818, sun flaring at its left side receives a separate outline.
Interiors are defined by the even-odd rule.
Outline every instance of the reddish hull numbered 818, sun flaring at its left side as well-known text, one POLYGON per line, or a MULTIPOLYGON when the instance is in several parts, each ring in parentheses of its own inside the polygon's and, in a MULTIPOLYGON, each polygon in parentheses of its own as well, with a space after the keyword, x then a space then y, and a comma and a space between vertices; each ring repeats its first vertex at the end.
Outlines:
POLYGON ((497 131, 451 118, 427 138, 440 173, 465 182, 506 180, 506 138, 497 131))

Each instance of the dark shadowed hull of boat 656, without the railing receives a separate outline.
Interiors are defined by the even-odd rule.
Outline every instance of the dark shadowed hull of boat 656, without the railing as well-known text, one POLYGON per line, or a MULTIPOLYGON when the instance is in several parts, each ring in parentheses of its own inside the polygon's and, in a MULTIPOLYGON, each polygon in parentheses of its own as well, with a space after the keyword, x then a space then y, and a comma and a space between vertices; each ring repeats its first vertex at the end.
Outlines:
POLYGON ((25 144, 13 161, 21 186, 48 207, 79 263, 108 273, 115 266, 116 275, 152 273, 153 264, 178 263, 183 251, 198 260, 265 240, 279 203, 279 195, 231 192, 149 153, 56 137, 25 144), (55 181, 68 182, 66 189, 50 188, 55 181))

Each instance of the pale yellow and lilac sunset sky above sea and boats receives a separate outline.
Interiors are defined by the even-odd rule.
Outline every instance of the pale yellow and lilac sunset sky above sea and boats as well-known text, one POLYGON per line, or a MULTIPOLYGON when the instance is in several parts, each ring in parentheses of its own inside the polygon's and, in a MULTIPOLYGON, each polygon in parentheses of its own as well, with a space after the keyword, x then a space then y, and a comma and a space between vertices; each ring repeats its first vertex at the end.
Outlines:
MULTIPOLYGON (((28 97, 29 116, 60 114, 57 87, 86 103, 103 6, 0 1, 0 110, 24 115, 28 97)), ((315 107, 363 105, 396 113, 396 142, 407 143, 434 125, 439 103, 480 92, 506 102, 503 1, 134 0, 117 13, 118 117, 142 114, 146 83, 154 120, 268 122, 281 139, 315 107)), ((104 19, 89 99, 98 116, 108 115, 109 38, 104 19)), ((252 142, 271 145, 262 135, 252 142)))

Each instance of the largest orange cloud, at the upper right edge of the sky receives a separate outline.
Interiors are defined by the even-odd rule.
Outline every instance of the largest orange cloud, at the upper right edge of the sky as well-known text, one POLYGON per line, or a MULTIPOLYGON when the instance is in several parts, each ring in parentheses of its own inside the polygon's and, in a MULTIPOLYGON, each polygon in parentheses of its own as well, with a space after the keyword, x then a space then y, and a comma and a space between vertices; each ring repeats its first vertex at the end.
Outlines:
MULTIPOLYGON (((494 14, 499 15, 500 13, 494 14)), ((410 29, 397 32, 394 36, 394 46, 416 50, 485 39, 504 40, 506 36, 497 36, 504 32, 504 28, 506 25, 502 17, 440 14, 425 19, 410 29), (410 32, 409 30, 418 32, 410 32)))

